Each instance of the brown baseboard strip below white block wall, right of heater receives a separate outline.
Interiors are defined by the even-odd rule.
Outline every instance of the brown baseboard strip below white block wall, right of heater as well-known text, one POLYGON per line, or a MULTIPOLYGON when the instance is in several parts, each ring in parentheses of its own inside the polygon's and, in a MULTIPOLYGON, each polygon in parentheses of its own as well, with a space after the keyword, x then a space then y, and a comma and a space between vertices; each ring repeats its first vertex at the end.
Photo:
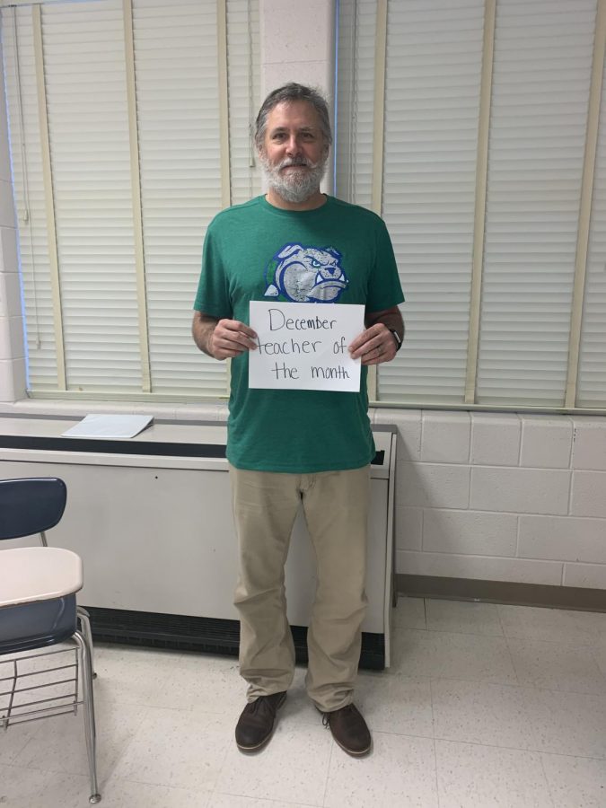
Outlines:
POLYGON ((396 575, 400 595, 446 598, 453 601, 512 603, 557 609, 606 611, 606 590, 580 586, 516 584, 510 581, 477 581, 438 575, 396 575))

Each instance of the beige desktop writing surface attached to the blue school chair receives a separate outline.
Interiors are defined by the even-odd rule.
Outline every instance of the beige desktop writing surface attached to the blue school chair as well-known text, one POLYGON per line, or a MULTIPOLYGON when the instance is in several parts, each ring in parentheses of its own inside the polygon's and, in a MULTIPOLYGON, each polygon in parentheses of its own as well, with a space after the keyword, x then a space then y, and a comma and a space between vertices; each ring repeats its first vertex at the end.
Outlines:
POLYGON ((0 550, 0 608, 49 601, 83 587, 82 559, 56 547, 0 550))

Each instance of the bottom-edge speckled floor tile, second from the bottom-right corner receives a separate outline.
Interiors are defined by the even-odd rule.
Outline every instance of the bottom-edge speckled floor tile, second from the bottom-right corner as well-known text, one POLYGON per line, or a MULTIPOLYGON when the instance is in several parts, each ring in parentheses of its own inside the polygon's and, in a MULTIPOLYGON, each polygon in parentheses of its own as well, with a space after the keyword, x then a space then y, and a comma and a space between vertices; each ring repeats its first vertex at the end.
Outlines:
POLYGON ((551 808, 537 752, 435 742, 440 808, 551 808))

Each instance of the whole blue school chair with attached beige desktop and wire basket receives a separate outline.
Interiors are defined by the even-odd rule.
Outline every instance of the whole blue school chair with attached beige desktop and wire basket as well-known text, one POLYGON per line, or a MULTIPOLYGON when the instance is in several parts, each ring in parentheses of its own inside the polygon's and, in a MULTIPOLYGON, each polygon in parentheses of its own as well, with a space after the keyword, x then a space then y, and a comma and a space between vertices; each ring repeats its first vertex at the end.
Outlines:
POLYGON ((0 728, 76 713, 82 705, 89 800, 98 803, 90 622, 75 602, 83 586, 83 564, 71 550, 48 547, 45 536, 65 506, 66 484, 61 479, 0 480, 0 540, 40 533, 44 545, 0 550, 0 697, 5 699, 0 703, 0 728), (57 648, 59 643, 72 647, 57 648), (38 653, 28 655, 30 651, 38 653), (8 662, 3 660, 7 654, 8 662), (74 663, 57 666, 58 654, 73 654, 74 663), (48 666, 40 670, 39 660, 47 659, 48 666), (27 666, 33 661, 37 670, 32 673, 27 666), (1 672, 6 667, 8 676, 1 672), (67 677, 60 680, 63 689, 71 688, 65 695, 49 690, 57 681, 40 678, 49 670, 67 677))

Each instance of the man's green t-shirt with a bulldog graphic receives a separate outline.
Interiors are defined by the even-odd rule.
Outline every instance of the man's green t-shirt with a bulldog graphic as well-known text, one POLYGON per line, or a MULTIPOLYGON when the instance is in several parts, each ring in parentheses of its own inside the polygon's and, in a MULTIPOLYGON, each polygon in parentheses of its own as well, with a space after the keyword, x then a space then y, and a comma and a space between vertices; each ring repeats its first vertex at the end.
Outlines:
MULTIPOLYGON (((333 197, 307 211, 264 197, 227 208, 206 232, 194 309, 248 325, 251 300, 361 303, 367 312, 398 305, 404 296, 385 224, 333 197)), ((365 370, 359 392, 250 390, 248 352, 233 358, 227 459, 239 469, 300 474, 366 465, 374 444, 365 370)))

